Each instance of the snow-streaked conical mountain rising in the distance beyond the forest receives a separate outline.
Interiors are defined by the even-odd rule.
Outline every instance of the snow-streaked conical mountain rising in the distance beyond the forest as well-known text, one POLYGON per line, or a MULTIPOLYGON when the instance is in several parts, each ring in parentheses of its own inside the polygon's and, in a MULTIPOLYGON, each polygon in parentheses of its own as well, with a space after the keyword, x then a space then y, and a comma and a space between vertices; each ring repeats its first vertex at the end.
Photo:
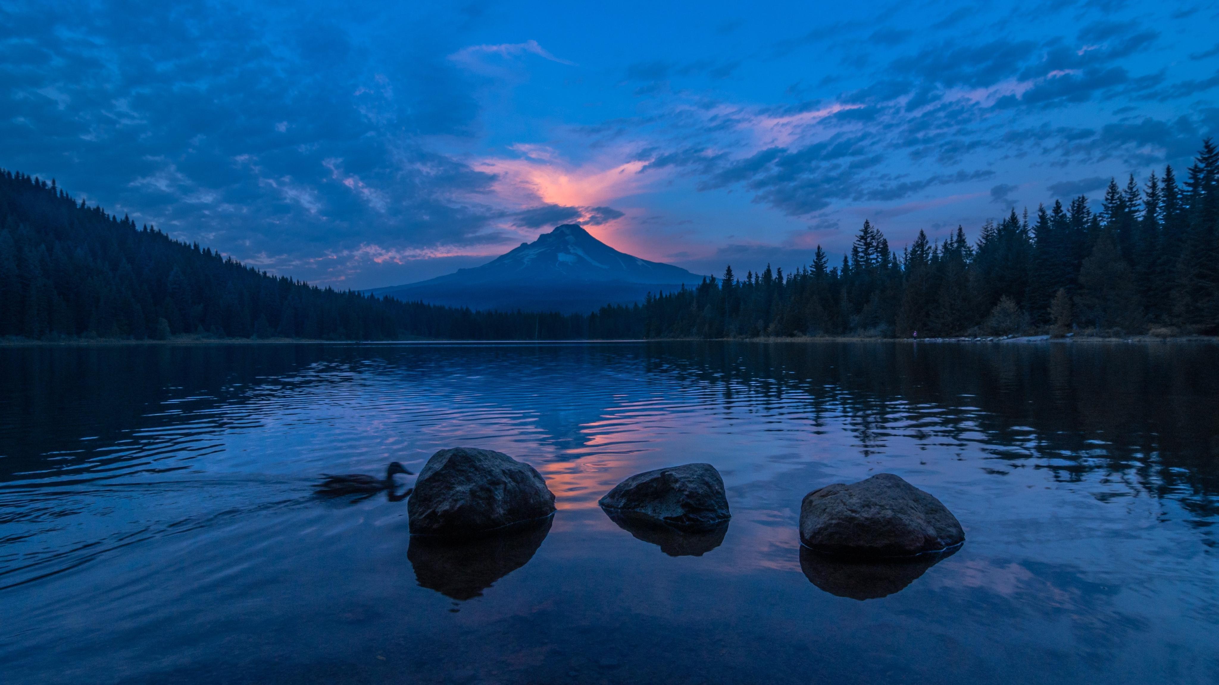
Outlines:
POLYGON ((701 280, 684 268, 619 252, 568 223, 480 267, 369 293, 473 310, 588 313, 701 280))

